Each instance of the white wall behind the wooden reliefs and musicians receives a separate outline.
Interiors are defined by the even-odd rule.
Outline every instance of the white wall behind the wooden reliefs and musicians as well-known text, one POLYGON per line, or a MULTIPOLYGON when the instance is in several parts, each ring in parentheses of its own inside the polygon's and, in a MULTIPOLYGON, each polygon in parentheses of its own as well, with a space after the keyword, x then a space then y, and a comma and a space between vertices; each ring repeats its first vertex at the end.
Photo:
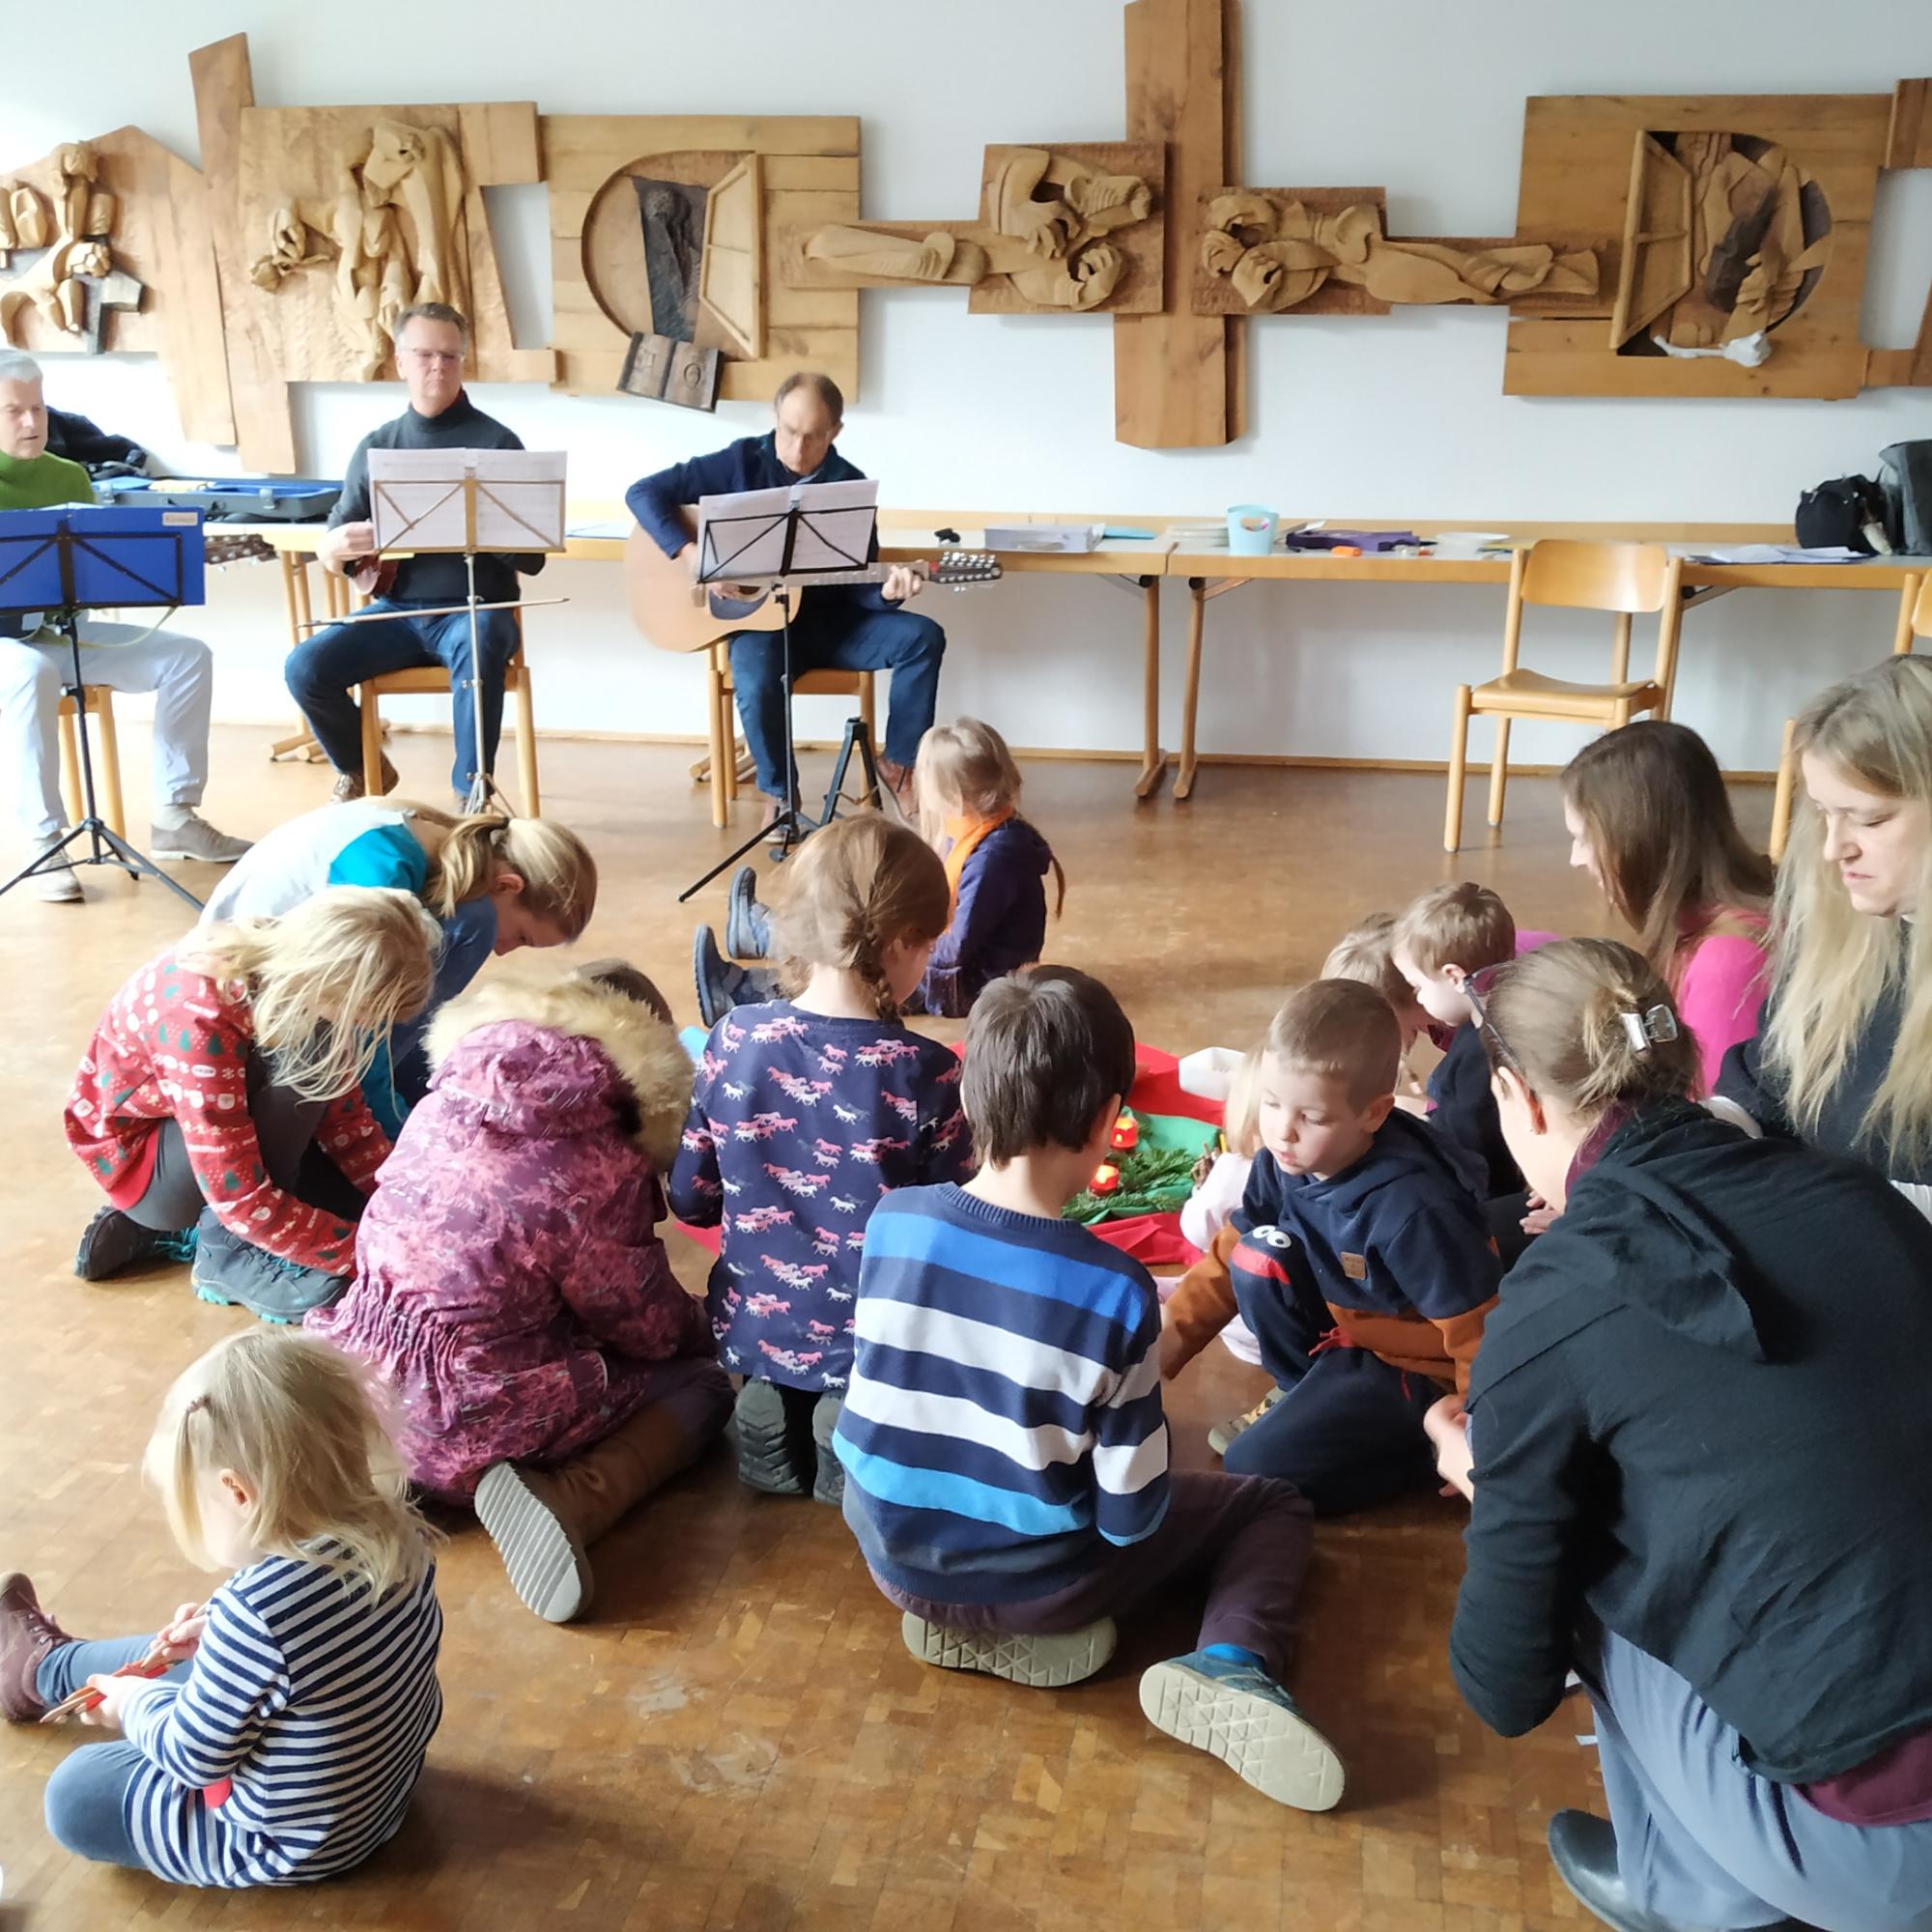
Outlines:
MULTIPOLYGON (((240 0, 95 0, 85 60, 66 10, 12 8, 0 71, 0 160, 139 122, 193 158, 187 52, 249 33, 265 102, 535 99, 545 112, 856 112, 866 213, 962 214, 991 139, 1121 133, 1119 0, 469 0, 354 31, 328 8, 240 0), (719 31, 721 19, 728 29, 719 31), (537 21, 533 27, 531 23, 537 21), (85 81, 77 83, 75 73, 85 81), (29 89, 27 77, 33 77, 29 89), (77 106, 85 99, 85 106, 77 106)), ((1532 93, 1888 93, 1932 71, 1926 0, 1864 0, 1859 31, 1808 0, 1387 0, 1360 15, 1314 0, 1246 0, 1246 178, 1370 182, 1406 234, 1507 234, 1522 99, 1532 93)), ((497 197, 512 311, 529 340, 549 315, 543 195, 497 197)), ((1932 172, 1886 184, 1866 340, 1911 340, 1932 276, 1932 172)), ((1932 392, 1857 402, 1607 402, 1501 394, 1499 311, 1252 325, 1250 435, 1227 450, 1117 444, 1111 328, 1094 317, 968 317, 949 292, 864 298, 864 398, 842 446, 887 502, 1217 514, 1779 520, 1799 489, 1872 469, 1882 444, 1932 435, 1932 392)), ((226 452, 185 446, 158 367, 54 363, 52 400, 149 442, 182 471, 226 452)), ((400 388, 309 386, 303 464, 338 468, 400 408, 400 388)), ((763 427, 626 398, 477 390, 531 446, 564 446, 574 497, 763 427)), ((286 715, 278 597, 232 574, 201 624, 220 653, 216 715, 286 715)), ((566 612, 533 620, 545 724, 697 732, 697 668, 643 649, 614 572, 553 566, 566 612)), ((949 626, 943 707, 999 721, 1018 744, 1124 748, 1140 736, 1140 616, 1099 583, 1022 580, 933 601, 949 626)), ((1779 721, 1812 686, 1884 653, 1886 597, 1741 593, 1694 611, 1679 717, 1725 763, 1766 767, 1779 721)), ((1167 736, 1179 719, 1184 601, 1167 591, 1167 736)), ((1213 607, 1202 744, 1223 752, 1441 757, 1449 692, 1495 657, 1499 593, 1252 587, 1213 607)), ((1532 653, 1536 653, 1532 634, 1532 653)), ((1592 634, 1540 634, 1549 668, 1594 665, 1592 634)), ((1588 672, 1584 672, 1588 674, 1588 672)), ((425 711, 423 715, 433 715, 425 711)), ((806 728, 835 713, 808 711, 806 728)), ((1573 734, 1524 730, 1520 757, 1573 734)))

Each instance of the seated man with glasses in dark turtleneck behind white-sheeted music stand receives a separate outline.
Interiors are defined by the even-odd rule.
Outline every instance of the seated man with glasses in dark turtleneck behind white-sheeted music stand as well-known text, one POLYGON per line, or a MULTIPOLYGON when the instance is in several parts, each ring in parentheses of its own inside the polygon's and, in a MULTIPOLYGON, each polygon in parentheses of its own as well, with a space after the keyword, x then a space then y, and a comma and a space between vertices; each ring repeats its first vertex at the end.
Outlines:
MULTIPOLYGON (((464 560, 454 553, 410 556, 390 566, 375 549, 369 522, 369 450, 520 450, 524 444, 493 415, 485 415, 464 392, 464 357, 469 325, 440 301, 423 301, 396 319, 396 369, 410 390, 410 408, 392 423, 369 431, 350 458, 348 475, 328 535, 317 545, 325 570, 348 576, 357 589, 375 591, 371 611, 392 612, 386 622, 361 620, 330 624, 288 653, 288 690, 315 732, 315 742, 336 767, 338 802, 363 796, 361 713, 350 696, 363 678, 386 670, 415 670, 444 665, 456 713, 456 765, 450 784, 458 810, 469 794, 469 767, 475 763, 475 699, 469 686, 469 616, 448 612, 468 595, 464 560), (442 611, 417 616, 415 611, 442 611)), ((518 576, 535 576, 543 553, 477 556, 477 599, 510 603, 518 597, 518 576)), ((497 736, 502 728, 502 676, 516 657, 516 612, 477 612, 477 643, 483 653, 483 757, 497 763, 497 736)), ((396 784, 396 771, 383 759, 383 790, 396 784)))

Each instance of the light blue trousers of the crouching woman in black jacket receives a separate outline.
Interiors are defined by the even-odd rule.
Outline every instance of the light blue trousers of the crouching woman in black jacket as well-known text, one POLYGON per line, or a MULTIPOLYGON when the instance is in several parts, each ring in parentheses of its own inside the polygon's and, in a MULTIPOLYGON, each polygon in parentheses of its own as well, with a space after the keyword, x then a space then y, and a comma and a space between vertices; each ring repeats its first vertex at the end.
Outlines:
POLYGON ((1855 1826, 1745 1770, 1739 1735, 1667 1663, 1605 1631, 1578 1675, 1596 1706, 1617 1864, 1662 1918, 1745 1932, 1932 1928, 1932 1820, 1855 1826))

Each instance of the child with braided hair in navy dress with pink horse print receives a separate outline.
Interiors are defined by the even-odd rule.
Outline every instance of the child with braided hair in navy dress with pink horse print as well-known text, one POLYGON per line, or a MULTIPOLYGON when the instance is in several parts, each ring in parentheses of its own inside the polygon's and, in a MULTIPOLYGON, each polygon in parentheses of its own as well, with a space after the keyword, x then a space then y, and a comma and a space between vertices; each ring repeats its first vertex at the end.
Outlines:
POLYGON ((837 1505, 866 1221, 891 1188, 972 1171, 958 1059, 898 1024, 947 923, 947 873, 869 811, 813 833, 779 914, 796 991, 711 1030, 670 1171, 672 1211, 723 1231, 711 1329, 744 1376, 738 1480, 837 1505))

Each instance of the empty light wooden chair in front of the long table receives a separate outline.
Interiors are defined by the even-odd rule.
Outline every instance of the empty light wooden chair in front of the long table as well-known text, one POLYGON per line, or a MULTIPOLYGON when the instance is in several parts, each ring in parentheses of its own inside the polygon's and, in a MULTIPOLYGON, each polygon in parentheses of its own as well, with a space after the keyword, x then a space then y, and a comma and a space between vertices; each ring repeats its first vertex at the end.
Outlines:
POLYGON ((1656 543, 1580 543, 1544 537, 1517 551, 1509 564, 1509 609, 1503 620, 1503 672, 1488 684, 1457 686, 1455 740, 1449 748, 1449 811, 1443 850, 1463 842, 1463 781, 1468 771, 1468 721, 1495 719, 1495 753, 1490 763, 1490 823, 1503 823, 1503 788, 1509 782, 1509 724, 1513 719, 1559 719, 1615 730, 1638 711, 1671 715, 1677 680, 1677 626, 1683 618, 1679 578, 1683 564, 1656 543), (1517 668, 1524 605, 1559 605, 1571 611, 1613 611, 1617 616, 1607 684, 1577 684, 1517 668), (1658 612, 1658 661, 1648 678, 1631 678, 1631 616, 1658 612))

